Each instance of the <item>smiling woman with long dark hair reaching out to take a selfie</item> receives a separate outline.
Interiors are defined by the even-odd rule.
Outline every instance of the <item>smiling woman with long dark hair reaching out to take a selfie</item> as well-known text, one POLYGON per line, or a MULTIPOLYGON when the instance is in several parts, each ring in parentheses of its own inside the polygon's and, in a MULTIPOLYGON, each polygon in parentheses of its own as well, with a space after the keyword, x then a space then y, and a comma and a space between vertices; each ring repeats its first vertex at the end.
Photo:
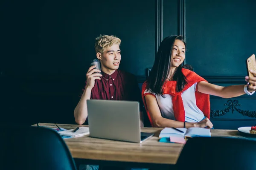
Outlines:
MULTIPOLYGON (((186 43, 182 36, 166 37, 160 44, 142 97, 152 127, 208 127, 209 95, 231 98, 252 95, 256 77, 245 77, 247 85, 222 87, 208 83, 190 67, 182 66, 186 43), (249 84, 250 83, 250 84, 249 84)), ((251 71, 254 76, 256 72, 251 71)))

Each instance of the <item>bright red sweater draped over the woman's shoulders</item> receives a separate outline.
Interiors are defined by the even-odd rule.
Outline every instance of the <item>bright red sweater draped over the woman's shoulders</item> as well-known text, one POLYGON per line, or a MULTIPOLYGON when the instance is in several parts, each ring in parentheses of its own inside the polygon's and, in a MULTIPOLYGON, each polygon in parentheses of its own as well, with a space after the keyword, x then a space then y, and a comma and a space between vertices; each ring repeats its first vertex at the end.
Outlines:
MULTIPOLYGON (((182 91, 177 92, 176 91, 176 81, 166 81, 165 84, 163 85, 163 94, 170 94, 172 96, 172 104, 173 104, 173 111, 174 111, 174 116, 175 120, 180 121, 180 122, 185 122, 185 110, 181 98, 181 94, 183 91, 186 91, 188 88, 190 88, 192 85, 194 85, 196 82, 201 82, 205 81, 207 82, 204 78, 198 76, 193 71, 190 71, 188 69, 182 68, 182 73, 185 75, 187 79, 187 84, 183 88, 182 91)), ((147 86, 147 81, 145 81, 142 85, 142 98, 143 98, 143 103, 145 105, 145 110, 148 114, 148 119, 151 123, 151 126, 153 127, 153 122, 151 119, 151 116, 148 112, 148 108, 145 102, 145 95, 144 92, 147 86)), ((195 91, 195 98, 196 98, 196 105, 197 107, 204 113, 204 116, 209 118, 210 116, 210 100, 209 100, 209 94, 203 94, 197 91, 195 91)))

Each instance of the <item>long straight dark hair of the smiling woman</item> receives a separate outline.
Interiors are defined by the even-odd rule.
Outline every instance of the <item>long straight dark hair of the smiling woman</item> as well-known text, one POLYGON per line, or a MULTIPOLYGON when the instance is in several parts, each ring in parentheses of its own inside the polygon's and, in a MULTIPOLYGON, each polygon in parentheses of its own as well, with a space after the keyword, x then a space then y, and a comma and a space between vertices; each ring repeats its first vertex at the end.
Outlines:
MULTIPOLYGON (((160 94, 163 97, 163 85, 168 78, 170 68, 172 66, 171 55, 175 40, 181 40, 186 46, 182 36, 172 35, 163 39, 160 43, 154 65, 147 79, 147 89, 155 94, 160 94)), ((182 91, 187 83, 186 77, 181 72, 182 68, 183 67, 179 65, 173 75, 173 80, 177 81, 176 91, 178 92, 182 91)))

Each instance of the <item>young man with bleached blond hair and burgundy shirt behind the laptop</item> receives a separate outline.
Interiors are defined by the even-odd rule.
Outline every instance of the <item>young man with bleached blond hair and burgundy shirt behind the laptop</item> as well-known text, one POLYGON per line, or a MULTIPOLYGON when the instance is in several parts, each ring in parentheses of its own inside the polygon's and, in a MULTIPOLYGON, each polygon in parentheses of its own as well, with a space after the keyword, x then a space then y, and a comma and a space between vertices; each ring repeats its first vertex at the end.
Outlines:
MULTIPOLYGON (((96 38, 95 51, 101 63, 102 74, 94 69, 95 65, 88 69, 86 85, 74 111, 77 124, 84 124, 87 119, 87 99, 138 101, 143 108, 136 77, 118 69, 121 61, 120 43, 121 40, 115 36, 104 35, 96 38)), ((143 126, 142 113, 140 117, 143 126)))

